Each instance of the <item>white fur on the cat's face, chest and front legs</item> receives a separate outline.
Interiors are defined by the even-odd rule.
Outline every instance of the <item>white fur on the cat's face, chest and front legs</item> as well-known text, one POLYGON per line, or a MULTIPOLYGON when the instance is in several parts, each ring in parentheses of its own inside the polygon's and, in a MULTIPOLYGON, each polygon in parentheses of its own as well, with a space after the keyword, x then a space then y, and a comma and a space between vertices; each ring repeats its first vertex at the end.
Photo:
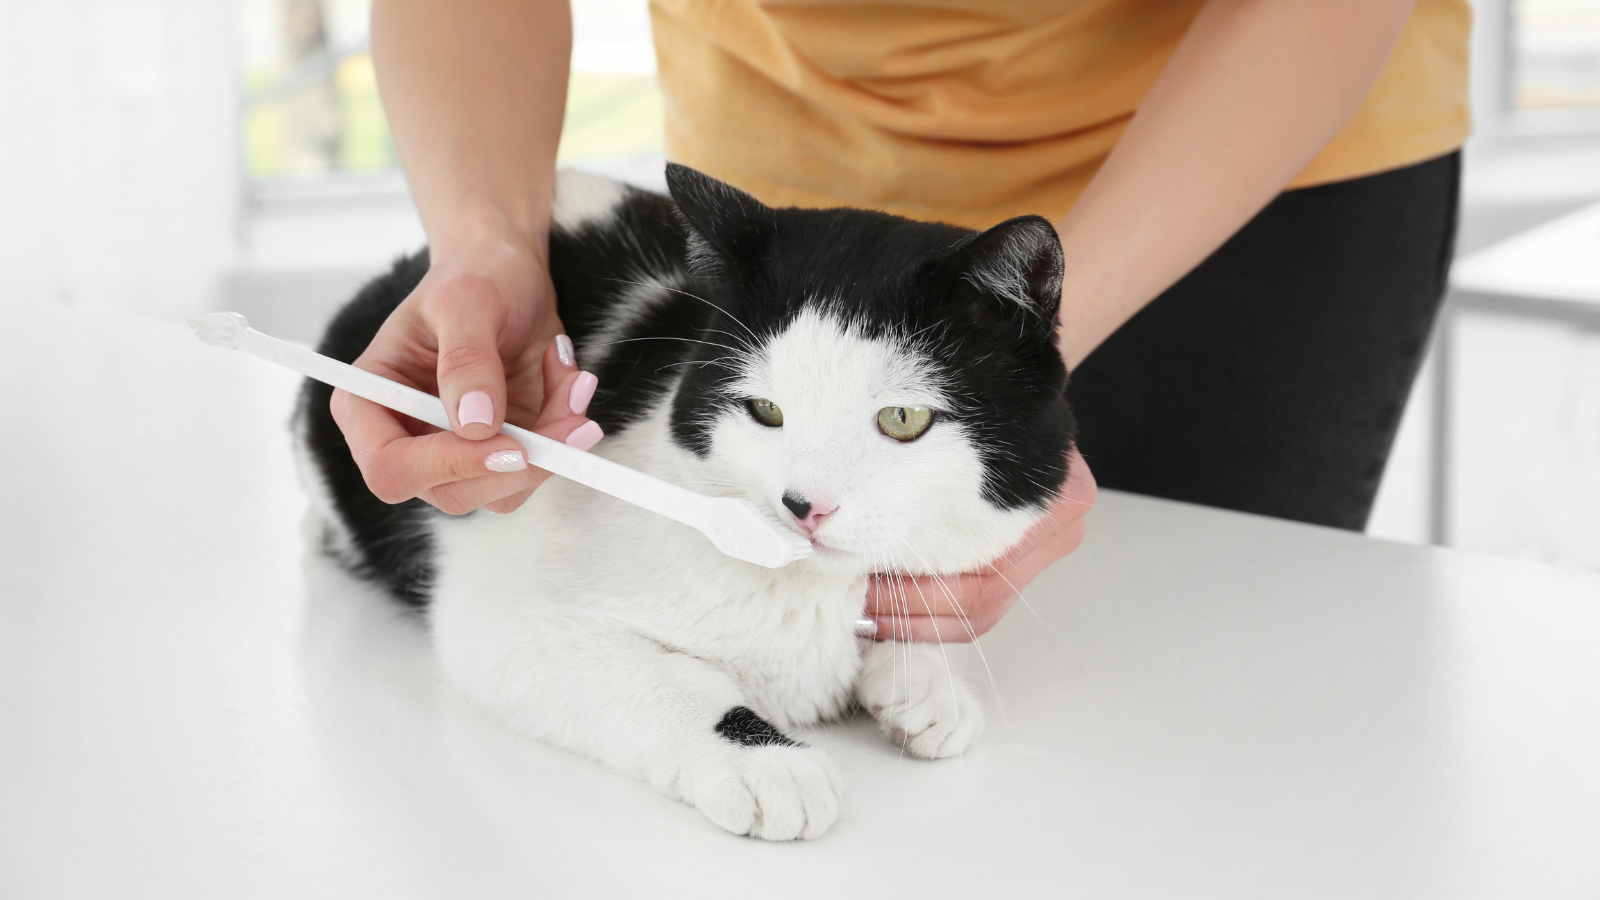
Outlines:
MULTIPOLYGON (((605 215, 589 199, 562 203, 558 221, 578 208, 605 215)), ((936 649, 854 636, 866 578, 979 569, 1038 512, 984 501, 978 448, 954 418, 907 444, 878 431, 883 407, 950 404, 901 341, 821 312, 762 346, 728 340, 741 341, 730 351, 741 359, 734 396, 776 402, 782 428, 730 405, 707 423, 699 458, 672 442, 669 397, 595 452, 786 520, 784 492, 837 504, 816 530, 818 552, 762 569, 554 477, 509 516, 435 519, 434 644, 446 677, 518 732, 646 780, 730 831, 816 838, 843 798, 827 756, 739 746, 717 722, 749 706, 789 732, 859 701, 909 753, 962 753, 981 708, 936 649)))

